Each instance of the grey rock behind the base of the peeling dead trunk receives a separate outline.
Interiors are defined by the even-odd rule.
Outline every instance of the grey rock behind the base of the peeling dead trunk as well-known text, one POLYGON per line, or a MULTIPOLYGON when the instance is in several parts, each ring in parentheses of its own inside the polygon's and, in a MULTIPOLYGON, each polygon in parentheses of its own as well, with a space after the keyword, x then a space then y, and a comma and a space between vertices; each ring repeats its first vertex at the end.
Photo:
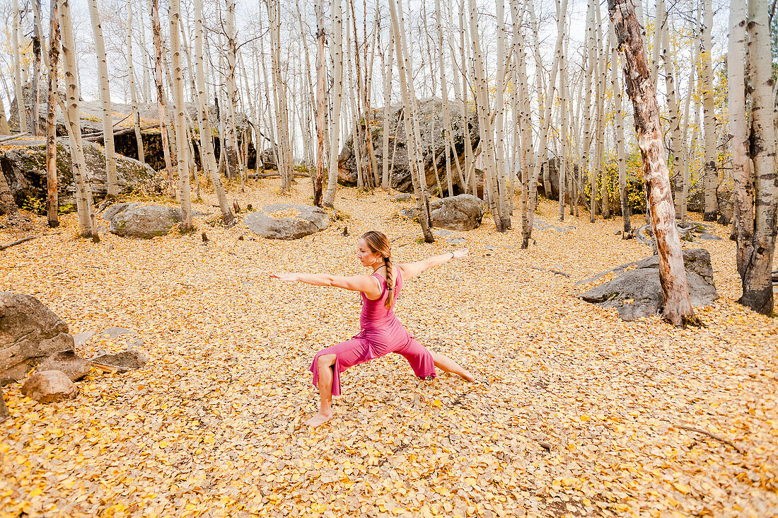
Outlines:
MULTIPOLYGON (((705 248, 695 248, 684 250, 683 257, 692 305, 707 305, 719 298, 716 286, 713 284, 710 253, 705 248)), ((659 284, 658 255, 618 266, 591 279, 580 280, 576 284, 587 284, 607 273, 621 274, 605 284, 580 294, 579 297, 605 308, 618 309, 619 316, 624 320, 655 315, 661 309, 663 298, 659 284)))

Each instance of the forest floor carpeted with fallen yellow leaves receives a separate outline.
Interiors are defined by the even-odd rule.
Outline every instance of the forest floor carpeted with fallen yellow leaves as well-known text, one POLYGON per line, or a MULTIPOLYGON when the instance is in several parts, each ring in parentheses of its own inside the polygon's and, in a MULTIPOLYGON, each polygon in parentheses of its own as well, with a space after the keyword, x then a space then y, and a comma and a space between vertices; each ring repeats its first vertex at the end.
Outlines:
MULTIPOLYGON (((258 207, 278 189, 261 180, 230 198, 258 207)), ((310 204, 310 184, 280 199, 310 204)), ((216 214, 212 203, 195 206, 216 214)), ((384 192, 339 189, 335 203, 350 218, 297 241, 208 217, 192 234, 103 230, 97 244, 76 236, 75 215, 53 230, 42 217, 0 229, 0 243, 40 234, 0 252, 0 290, 39 298, 71 333, 135 329, 151 360, 93 368, 62 403, 5 386, 2 516, 778 514, 778 319, 735 302, 727 227, 712 224, 723 239, 702 244, 720 299, 696 309, 704 327, 677 329, 576 298, 576 281, 650 254, 615 235, 618 217, 560 224, 543 201, 541 220, 575 228, 535 229, 521 250, 520 231, 499 234, 486 216, 454 233, 470 255, 408 281, 396 308, 476 381, 422 382, 389 355, 349 369, 335 418, 312 430, 310 361, 356 334, 359 297, 268 273, 360 273, 356 239, 370 229, 399 238, 398 262, 454 248, 419 243, 418 224, 397 216, 410 204, 384 192)), ((77 352, 112 347, 97 337, 77 352)))

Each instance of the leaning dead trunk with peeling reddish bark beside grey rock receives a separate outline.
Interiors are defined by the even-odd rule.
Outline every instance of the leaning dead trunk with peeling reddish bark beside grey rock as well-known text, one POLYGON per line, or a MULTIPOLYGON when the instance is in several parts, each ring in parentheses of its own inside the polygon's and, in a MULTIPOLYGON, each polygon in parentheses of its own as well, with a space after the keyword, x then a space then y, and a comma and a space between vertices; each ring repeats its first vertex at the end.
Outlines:
POLYGON ((608 0, 608 11, 619 47, 624 51, 626 90, 635 109, 635 129, 643 157, 643 181, 659 252, 663 316, 674 326, 698 323, 689 300, 683 250, 678 238, 678 227, 675 226, 675 207, 662 142, 657 92, 650 82, 649 62, 643 48, 640 23, 635 16, 635 5, 633 0, 608 0))

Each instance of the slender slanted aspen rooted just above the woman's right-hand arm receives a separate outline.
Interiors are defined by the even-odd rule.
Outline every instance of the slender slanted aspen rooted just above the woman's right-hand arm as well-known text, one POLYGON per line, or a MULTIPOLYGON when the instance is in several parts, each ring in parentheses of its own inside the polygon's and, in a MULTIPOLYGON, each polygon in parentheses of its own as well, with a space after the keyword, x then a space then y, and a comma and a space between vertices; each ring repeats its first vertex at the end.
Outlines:
MULTIPOLYGON (((408 70, 409 57, 405 45, 405 28, 401 26, 398 17, 402 16, 402 5, 398 2, 395 5, 394 0, 389 0, 389 12, 391 15, 391 37, 394 42, 394 52, 397 54, 397 63, 400 73, 400 91, 403 103, 403 119, 405 122, 405 135, 408 139, 408 166, 411 170, 411 183, 416 198, 416 210, 419 214, 419 224, 422 227, 424 241, 431 243, 435 241, 432 233, 431 218, 429 217, 429 203, 427 202, 426 192, 422 190, 421 178, 424 176, 423 166, 419 169, 419 151, 416 146, 416 132, 412 127, 412 74, 408 70), (411 83, 410 85, 408 83, 411 83)), ((413 103, 415 104, 415 103, 413 103)))

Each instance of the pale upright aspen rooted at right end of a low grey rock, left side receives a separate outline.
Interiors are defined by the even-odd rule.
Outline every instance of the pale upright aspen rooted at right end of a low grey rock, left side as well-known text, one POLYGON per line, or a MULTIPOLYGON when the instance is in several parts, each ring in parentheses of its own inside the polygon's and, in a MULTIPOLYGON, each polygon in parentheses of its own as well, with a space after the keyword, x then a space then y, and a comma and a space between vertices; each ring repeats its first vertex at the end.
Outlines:
POLYGON ((170 59, 173 72, 173 113, 175 114, 176 150, 178 155, 178 196, 181 202, 180 231, 192 230, 191 189, 189 188, 189 146, 184 121, 184 74, 181 69, 180 2, 170 0, 170 59))

